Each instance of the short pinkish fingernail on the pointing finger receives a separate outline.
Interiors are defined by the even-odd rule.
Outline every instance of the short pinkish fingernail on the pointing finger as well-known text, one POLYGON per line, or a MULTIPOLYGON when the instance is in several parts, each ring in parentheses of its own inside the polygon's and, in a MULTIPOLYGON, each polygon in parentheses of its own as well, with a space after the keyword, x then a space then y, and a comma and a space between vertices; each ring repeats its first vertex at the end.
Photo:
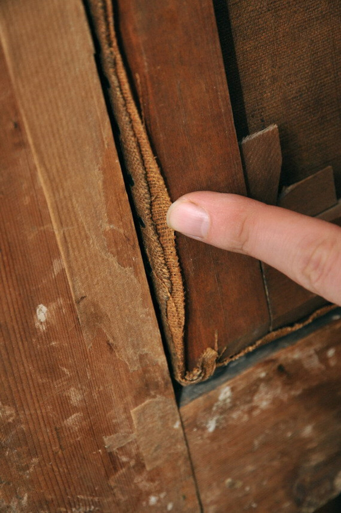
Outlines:
POLYGON ((168 209, 167 224, 184 235, 204 239, 210 228, 210 216, 191 201, 177 200, 168 209))

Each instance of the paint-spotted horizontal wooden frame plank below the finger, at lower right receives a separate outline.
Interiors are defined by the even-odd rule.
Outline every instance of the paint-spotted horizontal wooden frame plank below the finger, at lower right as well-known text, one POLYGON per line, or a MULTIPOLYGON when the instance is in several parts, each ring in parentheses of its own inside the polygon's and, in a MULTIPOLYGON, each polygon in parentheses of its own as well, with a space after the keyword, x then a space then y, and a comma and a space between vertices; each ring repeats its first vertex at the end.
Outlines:
POLYGON ((310 513, 341 491, 341 320, 180 408, 205 511, 310 513))

